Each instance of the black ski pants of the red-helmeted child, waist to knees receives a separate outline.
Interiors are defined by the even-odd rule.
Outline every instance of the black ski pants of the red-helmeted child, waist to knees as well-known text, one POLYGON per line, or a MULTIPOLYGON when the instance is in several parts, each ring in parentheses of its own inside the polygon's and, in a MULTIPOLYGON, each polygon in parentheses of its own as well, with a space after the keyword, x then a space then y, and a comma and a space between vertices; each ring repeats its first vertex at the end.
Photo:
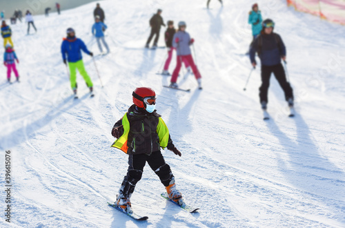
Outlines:
POLYGON ((159 176, 161 183, 167 187, 172 178, 174 178, 174 175, 172 175, 169 165, 166 164, 163 155, 161 155, 161 151, 155 151, 151 155, 129 155, 129 167, 125 179, 135 186, 141 179, 146 162, 148 162, 151 169, 159 176))

